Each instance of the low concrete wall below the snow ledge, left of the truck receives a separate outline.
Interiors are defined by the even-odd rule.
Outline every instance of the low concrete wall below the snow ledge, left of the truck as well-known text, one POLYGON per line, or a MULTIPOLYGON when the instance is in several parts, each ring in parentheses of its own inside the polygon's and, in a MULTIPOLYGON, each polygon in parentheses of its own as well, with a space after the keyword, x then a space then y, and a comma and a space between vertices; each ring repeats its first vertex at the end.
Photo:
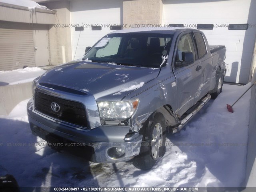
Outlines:
POLYGON ((0 86, 0 115, 8 115, 21 101, 32 97, 32 82, 0 86))

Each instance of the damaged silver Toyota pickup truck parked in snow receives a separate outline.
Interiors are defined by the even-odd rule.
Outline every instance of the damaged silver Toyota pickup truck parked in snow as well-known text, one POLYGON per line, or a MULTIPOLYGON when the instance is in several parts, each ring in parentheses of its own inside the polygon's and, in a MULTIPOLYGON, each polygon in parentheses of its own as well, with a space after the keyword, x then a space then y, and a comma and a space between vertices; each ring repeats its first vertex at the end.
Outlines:
POLYGON ((93 162, 150 169, 176 133, 222 90, 225 46, 199 30, 127 29, 33 82, 32 133, 52 147, 83 147, 93 162))

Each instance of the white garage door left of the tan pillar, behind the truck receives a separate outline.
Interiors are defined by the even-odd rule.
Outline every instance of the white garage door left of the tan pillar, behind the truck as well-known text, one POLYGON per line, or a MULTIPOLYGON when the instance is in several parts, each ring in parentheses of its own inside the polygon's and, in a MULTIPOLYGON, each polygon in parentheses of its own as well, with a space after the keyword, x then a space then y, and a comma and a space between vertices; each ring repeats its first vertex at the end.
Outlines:
POLYGON ((111 32, 111 25, 121 24, 120 0, 78 0, 70 2, 71 24, 84 26, 83 31, 71 27, 72 57, 81 58, 87 46, 94 45, 100 38, 111 32), (102 26, 101 28, 92 26, 102 26), (79 41, 78 41, 79 38, 79 41))

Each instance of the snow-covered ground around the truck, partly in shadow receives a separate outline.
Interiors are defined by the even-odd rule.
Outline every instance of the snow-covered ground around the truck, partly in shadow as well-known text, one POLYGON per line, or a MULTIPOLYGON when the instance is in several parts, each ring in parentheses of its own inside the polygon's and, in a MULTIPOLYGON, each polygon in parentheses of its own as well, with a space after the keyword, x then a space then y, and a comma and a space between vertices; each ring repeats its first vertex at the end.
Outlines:
MULTIPOLYGON (((26 103, 0 116, 0 162, 20 186, 240 186, 246 170, 250 92, 224 85, 186 126, 168 135, 166 154, 149 171, 132 162, 98 164, 56 152, 30 132, 26 103)), ((79 153, 77 153, 79 154, 79 153)), ((82 151, 80 151, 82 154, 82 151)))

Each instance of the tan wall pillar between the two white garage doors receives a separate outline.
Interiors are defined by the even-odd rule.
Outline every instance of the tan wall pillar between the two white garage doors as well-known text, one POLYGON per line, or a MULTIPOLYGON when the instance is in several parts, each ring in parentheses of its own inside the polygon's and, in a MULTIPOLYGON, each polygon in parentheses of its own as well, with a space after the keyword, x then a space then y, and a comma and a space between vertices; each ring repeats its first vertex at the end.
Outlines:
POLYGON ((124 0, 123 24, 162 24, 162 0, 124 0))

